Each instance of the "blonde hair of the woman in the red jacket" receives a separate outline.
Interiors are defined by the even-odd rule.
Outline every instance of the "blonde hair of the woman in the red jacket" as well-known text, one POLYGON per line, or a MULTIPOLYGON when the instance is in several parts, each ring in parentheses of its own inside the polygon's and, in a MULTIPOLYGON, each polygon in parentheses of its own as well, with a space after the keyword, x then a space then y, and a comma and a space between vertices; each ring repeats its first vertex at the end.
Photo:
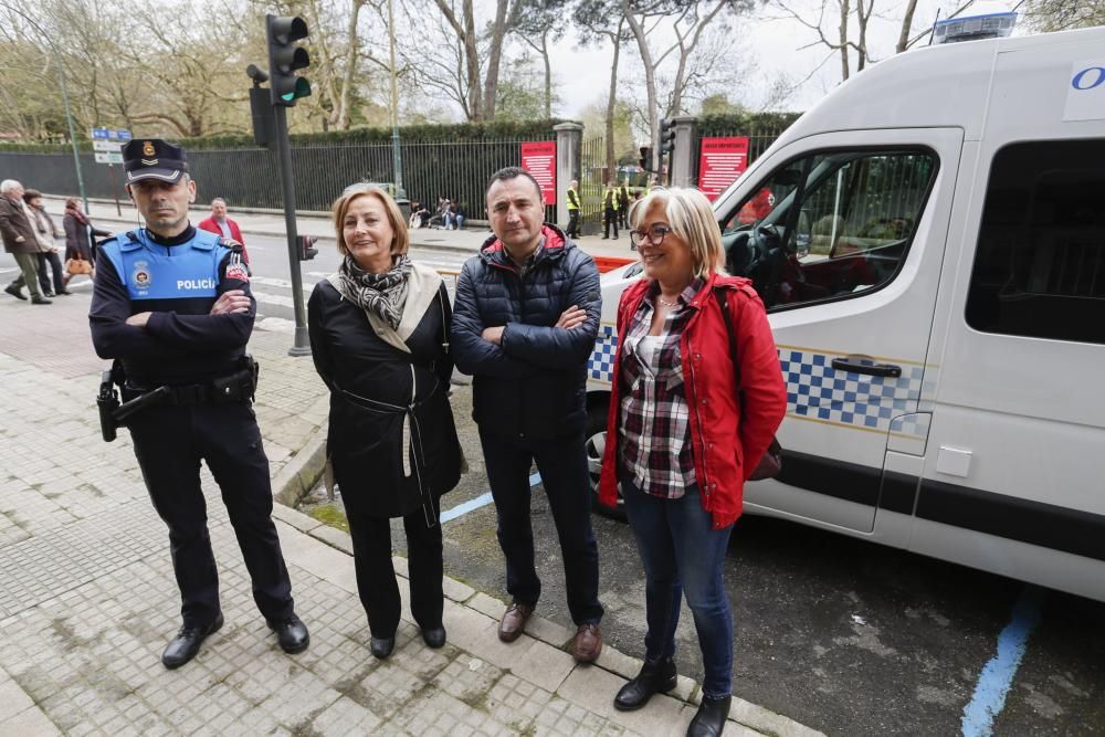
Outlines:
POLYGON ((664 206, 664 214, 676 235, 691 246, 695 278, 725 273, 722 230, 706 196, 692 187, 657 187, 629 208, 629 225, 638 230, 653 202, 664 206))

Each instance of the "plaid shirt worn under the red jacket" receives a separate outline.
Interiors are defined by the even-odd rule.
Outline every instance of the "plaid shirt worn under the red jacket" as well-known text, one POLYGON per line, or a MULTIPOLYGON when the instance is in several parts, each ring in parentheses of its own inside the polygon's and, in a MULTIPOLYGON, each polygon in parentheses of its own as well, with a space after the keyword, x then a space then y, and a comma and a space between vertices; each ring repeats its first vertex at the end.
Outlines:
POLYGON ((633 484, 653 496, 677 499, 695 483, 680 338, 694 314, 687 305, 704 283, 695 280, 680 294, 680 306, 667 313, 651 361, 642 357, 641 340, 652 325, 659 285, 645 293, 622 341, 619 451, 633 484))

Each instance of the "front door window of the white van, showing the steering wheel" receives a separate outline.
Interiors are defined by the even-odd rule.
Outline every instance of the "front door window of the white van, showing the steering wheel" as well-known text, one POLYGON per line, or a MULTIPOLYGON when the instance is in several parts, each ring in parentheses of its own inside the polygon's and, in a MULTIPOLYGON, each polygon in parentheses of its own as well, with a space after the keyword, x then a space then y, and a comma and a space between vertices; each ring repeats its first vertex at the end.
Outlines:
POLYGON ((936 165, 922 150, 790 161, 726 222, 726 270, 751 278, 768 309, 876 289, 905 260, 936 165))

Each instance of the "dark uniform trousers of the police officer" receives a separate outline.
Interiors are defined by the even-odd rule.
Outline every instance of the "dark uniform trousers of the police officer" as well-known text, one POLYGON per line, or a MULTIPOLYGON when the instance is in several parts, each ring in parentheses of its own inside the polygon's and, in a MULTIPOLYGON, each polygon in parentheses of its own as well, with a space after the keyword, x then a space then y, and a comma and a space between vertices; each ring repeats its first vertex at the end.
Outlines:
POLYGON ((222 492, 257 609, 269 620, 292 614, 292 582, 271 516, 269 459, 251 407, 154 407, 130 419, 130 436, 154 508, 169 527, 185 627, 204 627, 220 611, 201 459, 222 492))

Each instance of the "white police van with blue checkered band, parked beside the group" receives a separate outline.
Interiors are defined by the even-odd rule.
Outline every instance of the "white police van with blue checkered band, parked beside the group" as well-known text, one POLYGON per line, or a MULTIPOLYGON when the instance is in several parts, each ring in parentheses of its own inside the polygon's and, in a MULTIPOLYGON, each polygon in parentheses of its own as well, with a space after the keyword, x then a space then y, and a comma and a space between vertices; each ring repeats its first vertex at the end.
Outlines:
MULTIPOLYGON (((787 380, 746 510, 1105 600, 1105 29, 880 62, 715 210, 787 380)), ((592 480, 639 274, 603 280, 592 480)))

